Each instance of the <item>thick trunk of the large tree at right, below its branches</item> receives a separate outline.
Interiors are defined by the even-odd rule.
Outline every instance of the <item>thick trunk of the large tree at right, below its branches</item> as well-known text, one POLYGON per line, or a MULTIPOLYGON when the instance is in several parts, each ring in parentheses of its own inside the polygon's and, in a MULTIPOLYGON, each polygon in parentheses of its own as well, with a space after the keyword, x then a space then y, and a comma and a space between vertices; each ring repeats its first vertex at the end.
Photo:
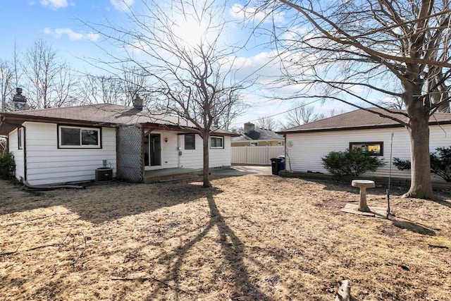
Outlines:
POLYGON ((412 161, 412 183, 404 197, 433 199, 431 182, 431 158, 429 156, 429 115, 428 112, 407 107, 410 121, 410 156, 412 161))

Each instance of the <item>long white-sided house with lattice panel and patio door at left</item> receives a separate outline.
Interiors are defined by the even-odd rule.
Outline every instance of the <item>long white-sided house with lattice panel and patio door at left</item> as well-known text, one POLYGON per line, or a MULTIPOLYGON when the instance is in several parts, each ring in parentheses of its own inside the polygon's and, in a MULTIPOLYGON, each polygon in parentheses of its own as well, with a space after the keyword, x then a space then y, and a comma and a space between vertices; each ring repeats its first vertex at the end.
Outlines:
MULTIPOLYGON (((201 169, 202 138, 176 116, 134 107, 94 104, 0 113, 0 135, 16 161, 16 178, 30 185, 94 180, 96 168, 142 182, 166 168, 201 169)), ((211 132, 211 168, 230 166, 230 137, 211 132)))

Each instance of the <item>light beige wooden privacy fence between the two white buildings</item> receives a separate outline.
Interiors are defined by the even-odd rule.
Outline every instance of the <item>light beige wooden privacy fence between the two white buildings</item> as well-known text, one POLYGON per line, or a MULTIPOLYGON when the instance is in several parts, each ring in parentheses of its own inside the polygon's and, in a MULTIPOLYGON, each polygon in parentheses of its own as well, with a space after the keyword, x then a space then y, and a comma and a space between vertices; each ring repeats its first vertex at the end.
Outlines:
POLYGON ((271 165, 271 158, 285 154, 285 147, 230 147, 232 164, 271 165))

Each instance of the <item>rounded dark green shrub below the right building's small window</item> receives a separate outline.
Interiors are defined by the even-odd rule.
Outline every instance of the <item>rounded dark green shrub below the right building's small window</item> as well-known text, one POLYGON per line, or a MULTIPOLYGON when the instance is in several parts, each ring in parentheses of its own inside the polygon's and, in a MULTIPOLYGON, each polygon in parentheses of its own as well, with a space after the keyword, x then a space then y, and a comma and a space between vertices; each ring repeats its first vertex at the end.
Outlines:
POLYGON ((360 149, 346 149, 345 152, 330 152, 323 159, 323 166, 334 176, 357 177, 366 171, 376 171, 385 163, 360 149))

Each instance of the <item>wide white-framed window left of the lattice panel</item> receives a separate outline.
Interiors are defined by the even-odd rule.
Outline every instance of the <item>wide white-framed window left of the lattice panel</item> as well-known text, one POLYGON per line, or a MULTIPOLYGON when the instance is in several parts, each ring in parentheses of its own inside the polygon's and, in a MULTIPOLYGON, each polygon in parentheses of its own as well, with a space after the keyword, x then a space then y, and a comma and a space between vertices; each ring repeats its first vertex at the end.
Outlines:
POLYGON ((100 128, 79 128, 58 126, 58 147, 60 148, 101 148, 100 128))

